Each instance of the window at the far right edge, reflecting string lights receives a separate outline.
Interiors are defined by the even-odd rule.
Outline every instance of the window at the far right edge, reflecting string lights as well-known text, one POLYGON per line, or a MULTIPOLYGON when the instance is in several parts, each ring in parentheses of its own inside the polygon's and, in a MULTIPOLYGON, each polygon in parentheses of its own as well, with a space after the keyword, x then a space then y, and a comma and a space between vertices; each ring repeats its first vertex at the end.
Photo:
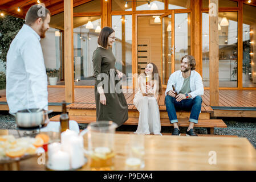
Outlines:
POLYGON ((243 87, 256 87, 256 7, 243 5, 243 87))

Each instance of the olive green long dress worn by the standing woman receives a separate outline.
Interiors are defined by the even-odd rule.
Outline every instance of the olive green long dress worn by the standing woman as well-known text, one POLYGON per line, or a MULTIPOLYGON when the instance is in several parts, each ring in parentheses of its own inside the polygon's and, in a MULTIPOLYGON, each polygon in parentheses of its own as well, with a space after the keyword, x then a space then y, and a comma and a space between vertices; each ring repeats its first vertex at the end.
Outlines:
POLYGON ((128 105, 121 90, 120 79, 117 77, 115 62, 116 59, 112 49, 97 47, 92 56, 95 77, 96 119, 97 121, 113 121, 118 126, 121 126, 128 119, 128 105), (103 78, 97 80, 97 76, 100 73, 105 74, 101 74, 100 76, 103 78), (103 86, 107 100, 106 105, 100 103, 100 94, 97 92, 97 86, 103 86), (116 87, 119 87, 121 92, 120 90, 116 92, 116 87))

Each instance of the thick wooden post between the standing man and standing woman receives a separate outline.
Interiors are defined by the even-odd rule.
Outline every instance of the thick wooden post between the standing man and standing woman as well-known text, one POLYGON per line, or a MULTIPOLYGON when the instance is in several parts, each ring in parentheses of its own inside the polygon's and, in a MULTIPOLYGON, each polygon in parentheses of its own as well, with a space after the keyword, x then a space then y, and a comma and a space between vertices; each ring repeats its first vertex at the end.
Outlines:
POLYGON ((64 0, 65 100, 74 102, 73 0, 64 0))

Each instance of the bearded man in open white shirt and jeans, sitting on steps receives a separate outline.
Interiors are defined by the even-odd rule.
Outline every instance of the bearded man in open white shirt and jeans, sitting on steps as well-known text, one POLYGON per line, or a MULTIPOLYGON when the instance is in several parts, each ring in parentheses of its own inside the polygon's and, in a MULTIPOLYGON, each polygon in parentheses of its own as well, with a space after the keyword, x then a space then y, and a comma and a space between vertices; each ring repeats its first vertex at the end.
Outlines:
POLYGON ((177 110, 190 110, 189 127, 186 135, 197 136, 194 132, 194 123, 198 122, 201 113, 202 98, 204 94, 204 85, 201 75, 196 72, 196 60, 193 56, 186 55, 181 58, 181 69, 170 75, 165 90, 165 105, 173 124, 172 135, 180 135, 178 129, 177 110), (173 90, 172 85, 175 90, 173 90), (175 91, 178 93, 177 96, 175 91))

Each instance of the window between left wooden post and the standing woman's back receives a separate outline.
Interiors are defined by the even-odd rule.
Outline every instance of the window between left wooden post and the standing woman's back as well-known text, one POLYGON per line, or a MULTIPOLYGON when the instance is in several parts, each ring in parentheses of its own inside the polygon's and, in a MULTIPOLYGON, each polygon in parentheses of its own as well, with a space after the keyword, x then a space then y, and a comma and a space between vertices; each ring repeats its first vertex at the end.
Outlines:
POLYGON ((100 16, 74 17, 75 85, 94 85, 92 54, 97 48, 100 16))

